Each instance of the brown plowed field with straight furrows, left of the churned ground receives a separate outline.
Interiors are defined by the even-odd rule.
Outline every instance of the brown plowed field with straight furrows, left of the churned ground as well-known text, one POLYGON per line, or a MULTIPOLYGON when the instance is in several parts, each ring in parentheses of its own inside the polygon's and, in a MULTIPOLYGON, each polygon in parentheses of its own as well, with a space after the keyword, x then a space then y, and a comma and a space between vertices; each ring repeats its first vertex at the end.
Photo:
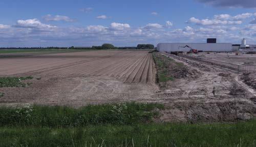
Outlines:
POLYGON ((28 81, 32 83, 28 87, 0 88, 5 93, 0 99, 2 105, 82 106, 137 101, 157 89, 155 64, 148 51, 91 51, 0 58, 0 68, 1 77, 34 77, 28 81))

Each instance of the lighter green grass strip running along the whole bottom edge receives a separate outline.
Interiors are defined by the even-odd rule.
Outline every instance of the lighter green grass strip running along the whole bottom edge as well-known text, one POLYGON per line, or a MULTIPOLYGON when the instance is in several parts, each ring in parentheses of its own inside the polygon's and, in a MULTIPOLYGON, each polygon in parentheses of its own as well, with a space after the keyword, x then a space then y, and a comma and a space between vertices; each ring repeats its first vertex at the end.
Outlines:
POLYGON ((0 146, 254 147, 255 122, 93 125, 77 128, 0 127, 0 146))

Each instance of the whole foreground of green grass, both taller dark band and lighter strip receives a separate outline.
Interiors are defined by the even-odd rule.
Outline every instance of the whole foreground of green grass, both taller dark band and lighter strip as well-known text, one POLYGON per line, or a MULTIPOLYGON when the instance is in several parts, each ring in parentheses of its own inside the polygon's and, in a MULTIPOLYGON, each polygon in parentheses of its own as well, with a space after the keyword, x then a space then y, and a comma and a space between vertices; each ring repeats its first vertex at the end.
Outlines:
POLYGON ((0 107, 0 146, 255 146, 256 120, 155 124, 160 104, 0 107))

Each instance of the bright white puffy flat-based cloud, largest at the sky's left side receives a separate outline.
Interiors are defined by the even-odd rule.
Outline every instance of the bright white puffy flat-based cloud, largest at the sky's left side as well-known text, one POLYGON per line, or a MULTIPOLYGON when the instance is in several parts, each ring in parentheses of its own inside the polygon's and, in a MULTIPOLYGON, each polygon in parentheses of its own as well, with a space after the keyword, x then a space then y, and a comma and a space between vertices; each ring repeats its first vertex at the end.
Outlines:
POLYGON ((17 28, 36 28, 36 29, 51 29, 56 28, 56 26, 51 26, 50 24, 41 23, 38 19, 27 19, 27 20, 17 20, 14 27, 17 28))

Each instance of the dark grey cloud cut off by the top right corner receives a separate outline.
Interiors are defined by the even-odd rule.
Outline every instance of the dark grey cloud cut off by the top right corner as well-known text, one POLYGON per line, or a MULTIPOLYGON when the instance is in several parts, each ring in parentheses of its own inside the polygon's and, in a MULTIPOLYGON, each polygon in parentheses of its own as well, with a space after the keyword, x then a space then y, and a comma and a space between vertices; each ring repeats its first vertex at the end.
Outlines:
POLYGON ((240 7, 240 8, 256 8, 254 0, 196 0, 200 3, 209 4, 215 7, 240 7))

